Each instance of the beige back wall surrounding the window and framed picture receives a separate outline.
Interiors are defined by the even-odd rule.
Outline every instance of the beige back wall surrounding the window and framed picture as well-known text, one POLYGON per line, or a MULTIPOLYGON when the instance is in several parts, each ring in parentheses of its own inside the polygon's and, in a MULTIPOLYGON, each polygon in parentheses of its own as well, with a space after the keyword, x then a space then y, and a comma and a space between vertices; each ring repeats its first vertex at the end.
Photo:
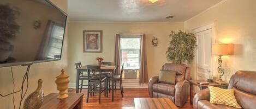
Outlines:
POLYGON ((97 64, 97 56, 114 62, 115 35, 117 33, 145 33, 147 44, 148 78, 158 75, 166 63, 166 49, 171 30, 183 30, 183 23, 69 23, 68 24, 68 72, 70 84, 75 83, 75 62, 82 65, 97 64), (83 53, 83 30, 103 30, 103 53, 83 53), (157 47, 151 44, 152 38, 159 41, 157 47))

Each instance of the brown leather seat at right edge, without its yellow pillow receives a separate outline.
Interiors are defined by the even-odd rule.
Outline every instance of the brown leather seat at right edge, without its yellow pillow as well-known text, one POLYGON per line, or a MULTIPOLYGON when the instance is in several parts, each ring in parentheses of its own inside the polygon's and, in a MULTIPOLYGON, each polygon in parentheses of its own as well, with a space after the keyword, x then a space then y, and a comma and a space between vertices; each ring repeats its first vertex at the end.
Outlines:
MULTIPOLYGON (((234 89, 238 104, 245 109, 256 108, 256 72, 237 71, 229 81, 228 89, 234 89)), ((235 109, 235 107, 211 104, 210 91, 204 89, 195 94, 193 99, 194 109, 235 109)))

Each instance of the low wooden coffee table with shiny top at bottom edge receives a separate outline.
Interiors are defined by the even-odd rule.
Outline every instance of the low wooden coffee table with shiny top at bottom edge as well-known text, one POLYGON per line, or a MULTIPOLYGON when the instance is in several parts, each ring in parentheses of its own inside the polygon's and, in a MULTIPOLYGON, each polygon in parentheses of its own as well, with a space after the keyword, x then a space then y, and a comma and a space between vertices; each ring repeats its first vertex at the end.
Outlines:
POLYGON ((135 109, 178 109, 169 98, 134 98, 135 109))

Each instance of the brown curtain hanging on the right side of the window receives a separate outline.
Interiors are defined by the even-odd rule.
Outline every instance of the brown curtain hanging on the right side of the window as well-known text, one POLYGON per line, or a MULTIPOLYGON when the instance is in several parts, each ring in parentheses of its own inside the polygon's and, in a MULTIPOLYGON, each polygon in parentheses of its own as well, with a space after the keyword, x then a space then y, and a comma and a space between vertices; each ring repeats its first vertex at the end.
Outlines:
POLYGON ((141 84, 148 83, 147 75, 147 55, 146 55, 146 35, 140 35, 140 78, 141 84))

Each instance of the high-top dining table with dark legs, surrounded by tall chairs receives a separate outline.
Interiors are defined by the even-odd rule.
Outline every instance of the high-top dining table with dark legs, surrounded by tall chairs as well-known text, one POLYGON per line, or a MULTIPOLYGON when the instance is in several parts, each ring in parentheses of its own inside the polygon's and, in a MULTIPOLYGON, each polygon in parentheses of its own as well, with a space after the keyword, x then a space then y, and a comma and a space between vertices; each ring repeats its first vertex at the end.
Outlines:
MULTIPOLYGON (((114 73, 117 66, 111 65, 111 66, 101 66, 100 69, 102 72, 111 72, 111 78, 114 80, 114 73)), ((76 68, 76 86, 75 86, 75 92, 79 92, 79 72, 87 72, 87 66, 82 66, 79 68, 76 68)), ((112 93, 112 101, 114 101, 114 81, 111 81, 111 93, 112 93)))

